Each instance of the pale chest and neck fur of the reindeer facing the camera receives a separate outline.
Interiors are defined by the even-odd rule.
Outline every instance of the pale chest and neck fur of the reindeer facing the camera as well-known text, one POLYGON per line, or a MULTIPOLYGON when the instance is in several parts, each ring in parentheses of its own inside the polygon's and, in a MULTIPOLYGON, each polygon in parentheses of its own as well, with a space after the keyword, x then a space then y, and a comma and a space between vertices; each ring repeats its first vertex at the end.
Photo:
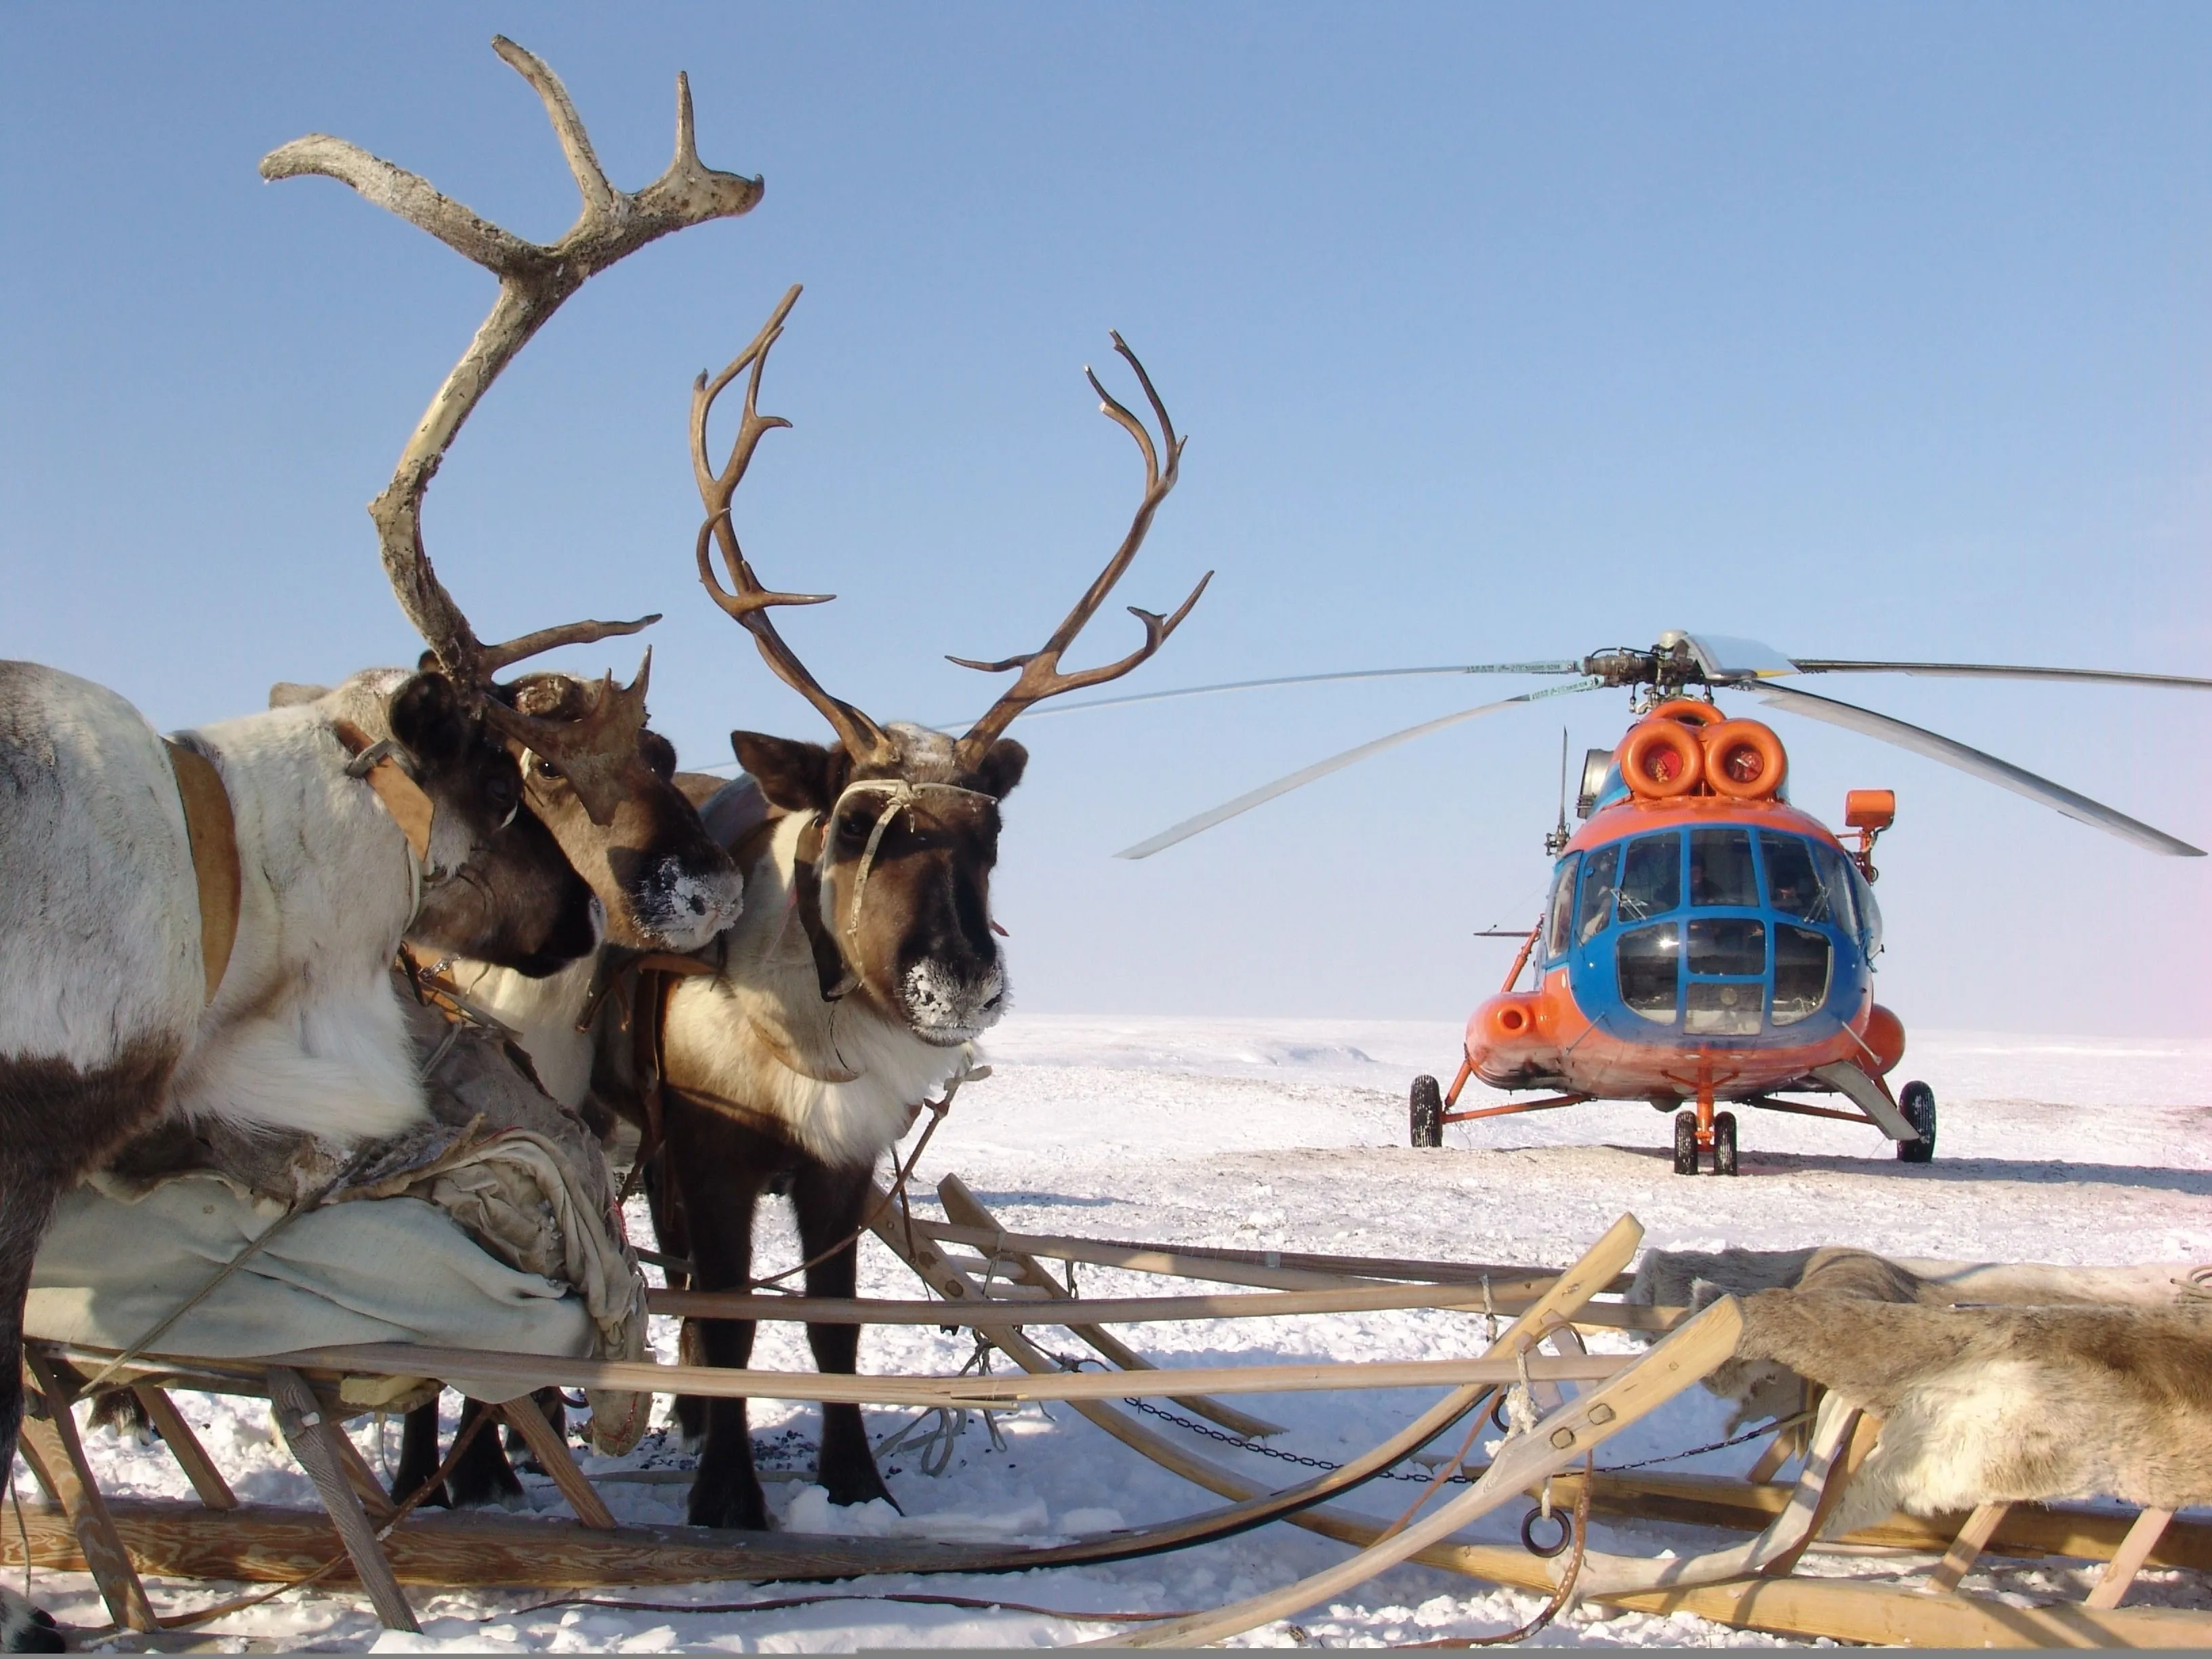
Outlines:
POLYGON ((774 1119, 832 1168, 872 1164, 960 1068, 858 995, 823 1002, 794 867, 805 814, 772 818, 745 869, 745 909, 723 933, 723 971, 668 998, 666 1075, 679 1088, 774 1119))

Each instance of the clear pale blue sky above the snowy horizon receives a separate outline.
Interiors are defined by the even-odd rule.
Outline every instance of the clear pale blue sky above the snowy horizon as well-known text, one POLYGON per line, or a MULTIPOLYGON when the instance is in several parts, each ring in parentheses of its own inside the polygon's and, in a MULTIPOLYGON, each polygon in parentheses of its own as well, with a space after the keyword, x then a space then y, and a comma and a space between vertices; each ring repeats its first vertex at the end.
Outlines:
MULTIPOLYGON (((159 728, 418 641, 363 504, 491 279, 325 179, 310 131, 551 241, 575 188, 515 35, 617 186, 690 73, 748 217, 595 276, 425 513, 482 637, 661 611, 686 763, 827 728, 699 593, 690 378, 805 283, 737 504, 781 628, 878 719, 995 681, 1128 524, 1079 372, 1144 356, 1183 478, 1119 604, 1206 599, 1124 690, 1577 657, 1663 628, 1801 657, 2212 672, 2212 13, 2192 7, 4 7, 0 657, 159 728)), ((628 641, 571 653, 597 672, 628 641)), ((1526 688, 1427 679, 1015 723, 995 911, 1035 1011, 1455 1018, 1533 920, 1562 721, 1473 721, 1144 863, 1305 761, 1526 688)), ((2197 845, 2212 697, 1809 688, 2197 845)), ((2139 852, 1783 714, 1798 805, 1893 787, 1907 1029, 2201 1035, 2212 860, 2139 852)), ((1449 1068, 1449 1057, 1438 1057, 1449 1068)))

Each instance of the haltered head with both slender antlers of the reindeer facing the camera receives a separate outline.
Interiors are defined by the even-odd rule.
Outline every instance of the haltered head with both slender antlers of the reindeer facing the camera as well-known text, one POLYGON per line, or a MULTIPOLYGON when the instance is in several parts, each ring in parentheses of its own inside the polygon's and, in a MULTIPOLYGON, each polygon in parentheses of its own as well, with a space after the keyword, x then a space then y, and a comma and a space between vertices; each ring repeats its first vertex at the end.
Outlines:
POLYGON ((799 847, 796 878, 799 914, 814 945, 823 995, 858 993, 925 1042, 951 1046, 975 1037, 1006 1011, 1006 969, 991 922, 991 867, 998 863, 1000 803, 1029 765, 1029 752, 1004 737, 1006 726, 1044 697, 1119 679, 1141 664, 1190 615, 1212 573, 1175 615, 1130 606, 1144 622, 1146 639, 1121 661, 1060 672, 1062 650, 1106 602, 1144 544, 1152 513, 1175 489, 1183 453, 1144 365, 1115 334, 1115 352, 1137 372, 1159 420, 1161 445, 1155 447, 1144 422, 1115 403, 1093 374, 1091 387, 1099 394, 1102 411, 1144 453, 1146 487, 1128 535, 1091 591, 1035 653, 998 664, 951 659, 984 672, 1022 670, 964 737, 907 723, 878 726, 832 697, 783 644, 768 615, 774 606, 823 604, 832 595, 763 588, 730 520, 730 502, 761 438, 790 425, 759 411, 759 392, 768 352, 781 338, 783 319, 796 301, 799 290, 792 288, 752 345, 717 378, 701 374, 692 387, 692 471, 708 513, 699 529, 697 562, 714 604, 752 635, 776 677, 830 721, 836 743, 732 732, 730 745, 772 805, 812 814, 799 847), (708 414, 714 398, 748 367, 752 376, 737 440, 728 465, 714 471, 706 449, 708 414), (728 586, 714 573, 714 546, 721 551, 728 586))

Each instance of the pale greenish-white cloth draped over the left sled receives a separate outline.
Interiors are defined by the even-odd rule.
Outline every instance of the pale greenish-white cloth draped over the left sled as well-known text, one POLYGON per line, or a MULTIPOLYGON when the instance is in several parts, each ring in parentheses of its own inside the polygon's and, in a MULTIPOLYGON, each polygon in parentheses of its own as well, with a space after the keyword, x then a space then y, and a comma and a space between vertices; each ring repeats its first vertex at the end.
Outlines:
MULTIPOLYGON (((24 1327, 122 1349, 195 1296, 283 1206, 215 1175, 137 1201, 66 1192, 31 1270, 24 1327)), ((155 1343, 157 1354, 257 1358, 341 1343, 429 1343, 582 1358, 593 1321, 575 1292, 484 1252, 422 1199, 334 1203, 292 1221, 155 1343)), ((526 1389, 445 1378, 482 1400, 526 1389)))

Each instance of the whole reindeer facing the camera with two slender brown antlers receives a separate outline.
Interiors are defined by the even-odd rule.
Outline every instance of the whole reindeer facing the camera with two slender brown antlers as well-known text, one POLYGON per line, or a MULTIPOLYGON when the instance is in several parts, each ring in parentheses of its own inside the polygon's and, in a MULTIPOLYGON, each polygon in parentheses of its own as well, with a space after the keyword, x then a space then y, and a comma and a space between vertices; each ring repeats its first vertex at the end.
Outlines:
MULTIPOLYGON (((1121 546, 1044 646, 1006 661, 967 661, 1020 679, 953 739, 920 726, 883 726, 832 697, 776 633, 770 611, 827 595, 772 593, 737 542, 730 502, 761 438, 790 425, 759 414, 761 372, 799 290, 776 305, 730 367, 692 394, 692 467, 706 502, 699 577, 754 639, 776 677, 805 697, 836 734, 801 743, 732 732, 730 743, 765 796, 765 818, 732 845, 745 872, 745 914, 721 940, 721 971, 684 978, 661 1020, 664 1150, 655 1221, 664 1250, 690 1259, 697 1290, 752 1283, 752 1214, 763 1190, 787 1190, 796 1208, 810 1296, 852 1296, 856 1237, 867 1221, 876 1159, 907 1130, 933 1091, 960 1075, 962 1046, 1006 1009, 1006 971, 991 922, 1000 803, 1022 781, 1026 750, 1006 726, 1057 692, 1119 679, 1190 615, 1206 580, 1168 617, 1130 608, 1144 644, 1119 661, 1062 672, 1060 657, 1106 602, 1144 544, 1152 513, 1175 489, 1183 440, 1144 365, 1115 336, 1159 422, 1159 440, 1106 394, 1102 411, 1144 456, 1144 495, 1121 546), (750 369, 728 462, 708 460, 708 416, 750 369), (728 584, 717 580, 719 549, 728 584)), ((1088 372, 1086 372, 1088 374, 1088 372)), ((712 1365, 745 1365, 752 1325, 701 1321, 692 1347, 712 1365)), ((810 1325, 823 1371, 852 1371, 852 1325, 810 1325)), ((703 1433, 690 1520, 765 1526, 743 1400, 686 1400, 686 1427, 703 1433)), ((889 1498, 860 1411, 823 1407, 818 1478, 836 1504, 889 1498)))

